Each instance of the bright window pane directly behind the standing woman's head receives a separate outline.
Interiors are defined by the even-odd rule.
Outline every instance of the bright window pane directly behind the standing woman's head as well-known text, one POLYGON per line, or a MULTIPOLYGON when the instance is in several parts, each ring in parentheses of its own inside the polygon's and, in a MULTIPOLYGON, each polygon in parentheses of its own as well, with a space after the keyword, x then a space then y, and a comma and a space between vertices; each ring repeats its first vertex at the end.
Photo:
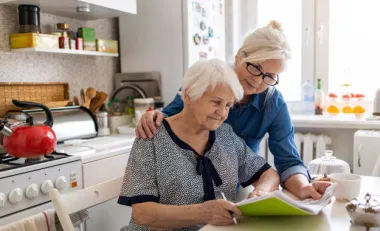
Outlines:
POLYGON ((265 26, 271 20, 281 22, 292 49, 292 59, 289 61, 286 71, 280 74, 280 84, 276 87, 281 91, 285 100, 300 100, 302 82, 302 0, 259 0, 257 6, 258 26, 265 26))

